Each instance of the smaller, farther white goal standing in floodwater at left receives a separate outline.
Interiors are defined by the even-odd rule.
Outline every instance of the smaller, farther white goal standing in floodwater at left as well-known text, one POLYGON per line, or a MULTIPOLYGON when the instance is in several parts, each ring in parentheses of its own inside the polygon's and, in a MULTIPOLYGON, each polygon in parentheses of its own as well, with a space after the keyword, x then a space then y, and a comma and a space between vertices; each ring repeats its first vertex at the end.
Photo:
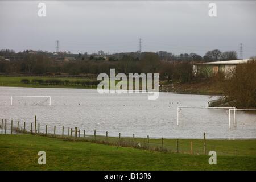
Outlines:
POLYGON ((51 96, 11 96, 11 105, 49 106, 51 96))

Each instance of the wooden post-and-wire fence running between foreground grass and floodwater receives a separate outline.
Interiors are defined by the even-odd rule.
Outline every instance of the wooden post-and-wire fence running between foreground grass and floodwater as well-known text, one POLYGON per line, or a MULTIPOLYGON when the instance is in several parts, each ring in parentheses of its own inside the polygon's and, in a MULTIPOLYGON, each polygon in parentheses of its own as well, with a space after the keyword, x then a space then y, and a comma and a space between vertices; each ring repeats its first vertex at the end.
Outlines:
MULTIPOLYGON (((141 150, 159 152, 177 152, 182 154, 205 155, 209 151, 216 151, 218 155, 256 155, 256 151, 245 144, 239 148, 241 140, 206 140, 206 134, 202 133, 202 139, 167 139, 167 138, 138 138, 123 137, 121 133, 113 134, 108 131, 86 131, 77 127, 64 127, 60 125, 46 125, 45 123, 7 121, 1 119, 1 134, 33 134, 46 137, 60 138, 67 141, 81 141, 107 144, 112 146, 134 147, 141 150)), ((255 140, 251 140, 255 142, 255 140)))

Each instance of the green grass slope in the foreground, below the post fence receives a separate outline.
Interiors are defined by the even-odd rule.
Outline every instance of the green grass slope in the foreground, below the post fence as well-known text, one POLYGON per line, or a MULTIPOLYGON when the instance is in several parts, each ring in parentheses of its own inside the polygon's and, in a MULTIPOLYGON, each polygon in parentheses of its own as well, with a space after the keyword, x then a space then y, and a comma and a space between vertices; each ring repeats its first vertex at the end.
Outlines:
MULTIPOLYGON (((219 150, 233 150, 233 143, 222 144, 219 150)), ((217 152, 217 165, 209 165, 208 155, 147 151, 30 134, 0 135, 0 170, 256 170, 255 140, 238 140, 236 144, 247 152, 237 156, 217 152), (46 152, 46 165, 38 164, 38 152, 42 150, 46 152)))

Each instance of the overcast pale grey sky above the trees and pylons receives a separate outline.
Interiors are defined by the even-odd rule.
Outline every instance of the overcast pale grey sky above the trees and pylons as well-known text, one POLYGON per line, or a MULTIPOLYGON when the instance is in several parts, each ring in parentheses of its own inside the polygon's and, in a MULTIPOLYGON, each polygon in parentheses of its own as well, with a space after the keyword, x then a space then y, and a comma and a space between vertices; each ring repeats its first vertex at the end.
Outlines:
POLYGON ((256 1, 0 1, 0 49, 256 55, 256 1), (38 3, 46 17, 38 16, 38 3), (210 2, 217 17, 208 15, 210 2))

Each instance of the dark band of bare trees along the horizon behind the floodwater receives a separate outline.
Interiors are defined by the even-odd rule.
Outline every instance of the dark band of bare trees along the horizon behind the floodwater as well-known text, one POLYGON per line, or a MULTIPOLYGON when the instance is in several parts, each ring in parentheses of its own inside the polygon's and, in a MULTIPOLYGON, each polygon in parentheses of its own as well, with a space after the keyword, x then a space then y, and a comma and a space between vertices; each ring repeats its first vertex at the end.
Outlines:
MULTIPOLYGON (((216 61, 217 59, 236 59, 236 52, 221 53, 219 50, 208 51, 204 57, 196 53, 183 53, 175 56, 166 51, 116 53, 108 56, 95 55, 85 57, 78 54, 75 60, 56 61, 52 53, 39 51, 30 53, 23 51, 15 53, 11 50, 0 51, 0 73, 67 73, 68 75, 109 73, 115 68, 119 73, 160 73, 160 78, 179 79, 189 82, 193 79, 192 64, 200 61, 216 61), (6 61, 4 58, 10 60, 6 61)), ((68 56, 68 55, 65 55, 68 56)))

